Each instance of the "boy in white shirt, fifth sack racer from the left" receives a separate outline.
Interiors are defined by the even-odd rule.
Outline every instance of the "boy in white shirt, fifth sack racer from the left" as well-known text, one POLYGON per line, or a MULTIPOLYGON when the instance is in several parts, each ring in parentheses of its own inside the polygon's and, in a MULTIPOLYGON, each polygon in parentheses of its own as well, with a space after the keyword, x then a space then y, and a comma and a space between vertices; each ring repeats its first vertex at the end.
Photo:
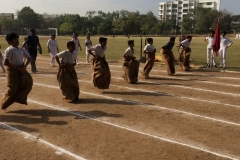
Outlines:
POLYGON ((148 38, 147 43, 148 44, 145 46, 145 48, 143 50, 143 53, 147 54, 147 56, 146 56, 147 60, 146 60, 145 66, 143 68, 142 75, 146 79, 149 79, 150 78, 149 73, 154 66, 156 48, 153 45, 153 39, 152 38, 148 38))

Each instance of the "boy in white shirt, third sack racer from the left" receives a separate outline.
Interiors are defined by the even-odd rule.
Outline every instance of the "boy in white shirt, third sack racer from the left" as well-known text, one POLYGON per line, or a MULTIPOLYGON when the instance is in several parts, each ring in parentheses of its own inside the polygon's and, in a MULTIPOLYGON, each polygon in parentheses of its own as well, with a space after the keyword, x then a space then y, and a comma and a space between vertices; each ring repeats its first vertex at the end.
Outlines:
POLYGON ((99 44, 88 49, 93 56, 90 63, 93 70, 91 81, 98 89, 109 89, 111 81, 110 69, 105 59, 106 45, 107 38, 100 37, 99 44))

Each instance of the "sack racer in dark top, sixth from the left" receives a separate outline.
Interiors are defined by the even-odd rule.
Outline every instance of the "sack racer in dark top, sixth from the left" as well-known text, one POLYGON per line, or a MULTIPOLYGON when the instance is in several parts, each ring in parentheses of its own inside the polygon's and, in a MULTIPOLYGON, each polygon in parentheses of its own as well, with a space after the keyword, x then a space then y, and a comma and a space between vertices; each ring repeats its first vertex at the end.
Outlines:
POLYGON ((173 75, 175 73, 175 58, 172 52, 172 48, 175 43, 175 37, 171 37, 170 41, 161 48, 160 54, 167 67, 167 74, 173 75))

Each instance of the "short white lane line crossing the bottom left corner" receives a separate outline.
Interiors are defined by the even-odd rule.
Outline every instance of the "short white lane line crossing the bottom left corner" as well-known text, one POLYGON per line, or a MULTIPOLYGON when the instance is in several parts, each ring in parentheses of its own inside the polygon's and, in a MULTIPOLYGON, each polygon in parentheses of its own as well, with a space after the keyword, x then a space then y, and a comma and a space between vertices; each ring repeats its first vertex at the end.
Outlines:
POLYGON ((56 150, 57 152, 64 153, 64 154, 66 154, 66 155, 68 155, 68 156, 70 156, 70 157, 72 157, 72 158, 74 158, 74 159, 77 159, 77 160, 85 160, 83 157, 80 157, 80 156, 78 156, 78 155, 76 155, 76 154, 74 154, 74 153, 72 153, 72 152, 69 152, 69 151, 67 151, 67 150, 65 150, 65 149, 63 149, 63 148, 60 148, 60 147, 58 147, 58 146, 55 146, 55 145, 52 144, 52 143, 49 143, 49 142, 47 142, 47 141, 45 141, 45 140, 43 140, 43 139, 40 139, 40 138, 38 138, 38 137, 36 137, 36 136, 34 136, 34 135, 31 135, 31 134, 29 134, 29 133, 23 132, 23 131, 21 131, 21 130, 19 130, 19 129, 17 129, 17 128, 14 128, 14 127, 12 127, 12 126, 10 126, 10 125, 7 125, 7 124, 5 124, 5 123, 0 122, 0 126, 2 126, 3 128, 9 129, 9 130, 15 131, 15 132, 21 134, 22 136, 24 136, 25 138, 27 138, 27 139, 29 139, 29 140, 36 141, 36 142, 42 143, 42 144, 44 144, 44 145, 46 145, 46 146, 48 146, 48 147, 51 147, 51 148, 53 148, 54 150, 56 150))

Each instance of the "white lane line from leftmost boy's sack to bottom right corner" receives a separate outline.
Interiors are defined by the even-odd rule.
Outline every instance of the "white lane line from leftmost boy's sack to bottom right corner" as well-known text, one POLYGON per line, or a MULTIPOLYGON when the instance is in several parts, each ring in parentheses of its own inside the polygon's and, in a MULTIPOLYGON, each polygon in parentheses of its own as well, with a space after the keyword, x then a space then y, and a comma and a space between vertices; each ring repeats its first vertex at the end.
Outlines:
POLYGON ((107 124, 107 125, 110 125, 110 126, 113 126, 113 127, 117 127, 117 128, 120 128, 120 129, 124 129, 124 130, 127 130, 127 131, 131 131, 131 132, 134 132, 134 133, 145 135, 145 136, 148 136, 148 137, 152 137, 152 138, 155 138, 155 139, 158 139, 158 140, 162 140, 162 141, 165 141, 165 142, 169 142, 169 143, 181 145, 181 146, 184 146, 184 147, 196 149, 196 150, 199 150, 199 151, 203 151, 203 152, 206 152, 206 153, 210 153, 210 154, 218 156, 218 157, 228 158, 228 159, 232 159, 232 160, 236 160, 236 159, 240 158, 240 157, 236 157, 235 155, 224 155, 222 153, 218 153, 216 151, 210 151, 208 149, 200 148, 200 147, 197 147, 197 146, 194 146, 194 145, 191 145, 191 144, 186 144, 186 143, 174 141, 174 140, 171 140, 171 139, 168 139, 168 138, 155 136, 155 135, 152 135, 152 134, 149 134, 149 133, 145 133, 145 132, 142 132, 142 131, 138 131, 138 130, 132 129, 129 126, 121 126, 121 125, 114 124, 114 123, 107 122, 107 121, 103 121, 103 120, 100 120, 100 119, 95 119, 95 118, 92 118, 92 117, 89 117, 89 116, 86 116, 86 115, 82 115, 82 114, 70 111, 68 109, 62 108, 61 106, 50 105, 50 104, 46 104, 46 103, 43 103, 43 102, 35 101, 35 100, 32 100, 32 99, 30 99, 29 102, 32 102, 32 103, 35 103, 35 104, 39 104, 39 105, 42 105, 42 106, 45 106, 45 107, 49 107, 49 108, 52 108, 52 109, 64 111, 64 112, 67 112, 67 113, 71 113, 71 114, 79 116, 79 117, 91 119, 93 121, 101 122, 101 123, 104 123, 104 124, 107 124))

